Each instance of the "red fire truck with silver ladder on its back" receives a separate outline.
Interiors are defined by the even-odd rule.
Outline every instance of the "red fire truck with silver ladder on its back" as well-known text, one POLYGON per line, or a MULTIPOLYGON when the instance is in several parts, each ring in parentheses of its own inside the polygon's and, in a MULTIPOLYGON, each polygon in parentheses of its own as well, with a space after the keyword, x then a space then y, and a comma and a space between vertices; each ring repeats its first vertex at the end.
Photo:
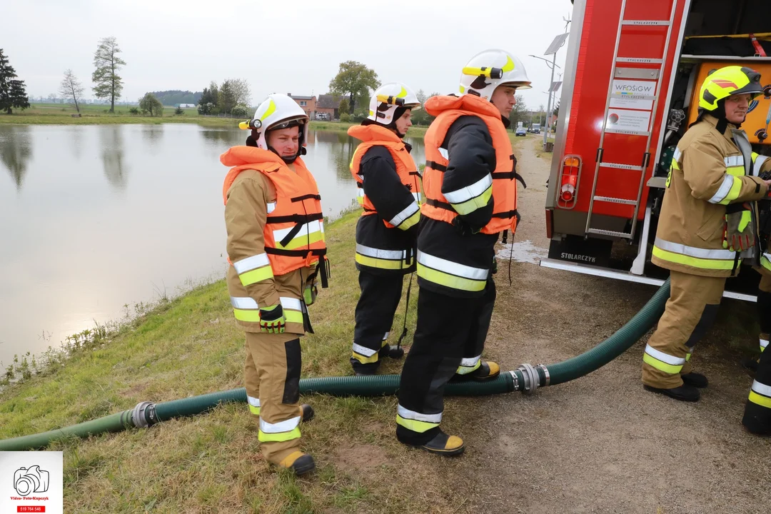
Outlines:
MULTIPOLYGON (((650 263, 672 153, 710 70, 739 64, 771 85, 767 0, 574 0, 541 266, 662 284, 650 263)), ((771 87, 750 105, 753 149, 771 154, 771 87)), ((726 296, 754 300, 758 275, 726 296)))

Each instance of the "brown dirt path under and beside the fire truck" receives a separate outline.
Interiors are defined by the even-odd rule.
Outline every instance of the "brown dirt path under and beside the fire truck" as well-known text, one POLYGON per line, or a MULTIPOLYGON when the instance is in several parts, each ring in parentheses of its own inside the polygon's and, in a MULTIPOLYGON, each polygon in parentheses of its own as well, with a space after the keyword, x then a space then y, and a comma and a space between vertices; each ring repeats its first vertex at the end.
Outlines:
MULTIPOLYGON (((520 143, 524 219, 517 240, 547 248, 548 166, 520 143)), ((573 357, 608 337, 655 288, 514 262, 497 275, 487 356, 505 370, 573 357)), ((743 431, 751 383, 739 366, 757 339, 732 338, 749 304, 724 302, 719 326, 699 344, 695 368, 710 387, 695 405, 653 395, 640 383, 645 341, 577 381, 520 393, 454 400, 480 423, 463 426, 468 512, 767 512, 771 441, 743 431), (743 314, 741 311, 745 311, 743 314), (736 323, 733 322, 735 325, 736 323)), ((749 317, 751 319, 751 317, 749 317)), ((450 418, 451 414, 447 416, 450 418)), ((460 472, 460 469, 458 470, 460 472)))

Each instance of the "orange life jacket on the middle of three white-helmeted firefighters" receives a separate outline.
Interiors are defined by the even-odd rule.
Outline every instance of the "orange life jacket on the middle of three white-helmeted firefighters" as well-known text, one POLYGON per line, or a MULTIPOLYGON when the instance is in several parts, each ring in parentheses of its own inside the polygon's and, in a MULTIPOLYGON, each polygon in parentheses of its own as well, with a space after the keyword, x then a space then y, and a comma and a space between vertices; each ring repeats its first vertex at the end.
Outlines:
MULTIPOLYGON (((359 146, 356 147, 356 151, 353 153, 353 159, 351 160, 351 174, 356 181, 356 186, 359 190, 356 193, 356 200, 359 201, 364 210, 362 216, 369 216, 376 214, 375 206, 369 201, 369 198, 364 194, 363 176, 359 174, 359 170, 362 165, 362 157, 365 156, 367 150, 372 146, 385 146, 393 157, 393 162, 396 163, 396 174, 399 175, 399 180, 402 184, 407 186, 412 191, 412 197, 418 204, 420 200, 420 176, 418 174, 415 161, 412 160, 412 156, 409 155, 405 147, 404 141, 399 136, 392 133, 389 129, 378 125, 355 125, 348 128, 348 136, 355 137, 362 141, 359 146)), ((388 221, 383 220, 386 227, 393 228, 393 225, 388 221)))

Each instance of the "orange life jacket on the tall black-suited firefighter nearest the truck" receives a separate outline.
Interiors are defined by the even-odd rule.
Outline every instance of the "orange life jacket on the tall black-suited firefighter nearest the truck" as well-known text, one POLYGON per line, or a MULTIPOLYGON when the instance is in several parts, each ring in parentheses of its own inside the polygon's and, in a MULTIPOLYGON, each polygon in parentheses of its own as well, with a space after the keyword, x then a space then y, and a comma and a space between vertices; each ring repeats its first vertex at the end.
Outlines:
POLYGON ((426 170, 423 172, 423 193, 426 203, 420 208, 423 216, 433 220, 453 223, 458 213, 442 194, 444 172, 449 161, 439 151, 449 127, 460 116, 478 116, 487 125, 495 148, 496 167, 493 177, 493 218, 482 229, 483 233, 500 233, 517 230, 517 173, 511 140, 500 120, 500 112, 487 100, 473 95, 432 96, 426 100, 426 112, 436 116, 426 131, 426 170))

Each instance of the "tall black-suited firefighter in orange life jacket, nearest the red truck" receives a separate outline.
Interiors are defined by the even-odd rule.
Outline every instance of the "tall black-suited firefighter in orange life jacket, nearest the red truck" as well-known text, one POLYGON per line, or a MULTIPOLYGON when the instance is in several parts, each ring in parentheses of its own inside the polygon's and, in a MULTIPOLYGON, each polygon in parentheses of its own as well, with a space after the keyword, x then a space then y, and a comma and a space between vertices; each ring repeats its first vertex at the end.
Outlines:
POLYGON ((440 455, 463 440, 439 428, 450 379, 485 381, 499 366, 482 359, 495 303, 499 234, 517 227, 516 161, 507 126, 517 89, 530 87, 508 52, 487 50, 463 68, 460 96, 434 96, 424 138, 426 170, 418 236, 418 321, 399 385, 396 436, 440 455))

